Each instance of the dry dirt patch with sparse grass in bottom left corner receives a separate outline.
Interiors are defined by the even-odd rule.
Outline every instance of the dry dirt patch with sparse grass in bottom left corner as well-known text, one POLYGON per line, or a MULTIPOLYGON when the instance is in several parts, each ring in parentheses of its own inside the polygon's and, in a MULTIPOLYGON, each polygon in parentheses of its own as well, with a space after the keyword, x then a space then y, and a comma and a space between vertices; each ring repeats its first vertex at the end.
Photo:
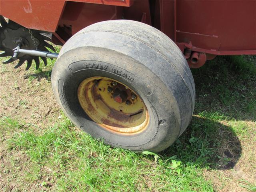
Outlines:
POLYGON ((50 191, 52 170, 31 163, 23 152, 0 151, 0 191, 50 191))

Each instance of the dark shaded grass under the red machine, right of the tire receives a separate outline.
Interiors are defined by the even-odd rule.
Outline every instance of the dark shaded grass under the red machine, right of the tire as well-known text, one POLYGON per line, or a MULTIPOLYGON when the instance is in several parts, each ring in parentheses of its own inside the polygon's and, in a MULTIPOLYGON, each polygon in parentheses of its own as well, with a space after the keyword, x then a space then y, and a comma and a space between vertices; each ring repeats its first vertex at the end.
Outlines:
POLYGON ((196 85, 194 114, 218 113, 222 120, 256 121, 256 57, 219 56, 192 69, 196 85), (244 62, 242 62, 243 60, 244 62))

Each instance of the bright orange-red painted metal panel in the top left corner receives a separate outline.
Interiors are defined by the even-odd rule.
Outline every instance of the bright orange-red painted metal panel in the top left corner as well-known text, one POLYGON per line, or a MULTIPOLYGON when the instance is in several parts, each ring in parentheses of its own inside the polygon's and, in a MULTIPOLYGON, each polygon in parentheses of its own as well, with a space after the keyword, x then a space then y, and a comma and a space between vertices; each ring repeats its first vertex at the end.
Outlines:
POLYGON ((0 0, 0 15, 30 29, 56 30, 65 0, 0 0))

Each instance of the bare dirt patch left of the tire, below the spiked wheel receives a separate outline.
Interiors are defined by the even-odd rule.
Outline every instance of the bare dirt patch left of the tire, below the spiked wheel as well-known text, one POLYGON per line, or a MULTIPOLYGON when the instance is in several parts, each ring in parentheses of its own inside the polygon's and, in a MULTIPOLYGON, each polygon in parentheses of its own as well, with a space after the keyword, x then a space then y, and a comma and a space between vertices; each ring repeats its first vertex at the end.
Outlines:
POLYGON ((51 82, 46 77, 27 78, 32 71, 25 71, 25 65, 14 69, 15 64, 7 64, 6 72, 1 71, 0 117, 22 119, 25 123, 42 128, 52 126, 58 121, 60 107, 52 92, 51 82), (47 118, 46 118, 47 117, 47 118))

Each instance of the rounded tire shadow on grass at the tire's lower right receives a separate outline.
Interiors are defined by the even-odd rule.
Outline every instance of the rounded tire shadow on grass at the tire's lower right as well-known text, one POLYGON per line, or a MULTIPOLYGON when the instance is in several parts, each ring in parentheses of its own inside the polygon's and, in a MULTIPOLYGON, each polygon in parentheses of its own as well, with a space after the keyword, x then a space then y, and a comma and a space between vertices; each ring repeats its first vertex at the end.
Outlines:
POLYGON ((193 116, 190 126, 170 148, 160 152, 165 159, 213 169, 234 168, 241 153, 241 143, 232 128, 198 116, 193 116))

